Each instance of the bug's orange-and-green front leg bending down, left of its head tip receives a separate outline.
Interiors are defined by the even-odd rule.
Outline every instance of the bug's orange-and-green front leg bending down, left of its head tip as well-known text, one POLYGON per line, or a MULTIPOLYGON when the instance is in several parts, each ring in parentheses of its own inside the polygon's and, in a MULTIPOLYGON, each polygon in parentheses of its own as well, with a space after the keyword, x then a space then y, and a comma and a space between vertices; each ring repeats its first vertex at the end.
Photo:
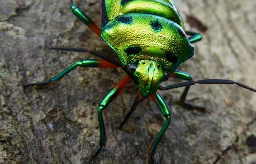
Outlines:
POLYGON ((87 161, 87 164, 90 164, 92 160, 100 153, 102 148, 106 143, 106 135, 105 135, 105 125, 103 120, 102 111, 109 105, 109 103, 118 96, 131 78, 129 76, 124 77, 116 86, 114 86, 105 98, 101 101, 100 106, 98 108, 98 119, 99 119, 99 127, 100 127, 100 143, 99 146, 94 150, 91 157, 87 161))

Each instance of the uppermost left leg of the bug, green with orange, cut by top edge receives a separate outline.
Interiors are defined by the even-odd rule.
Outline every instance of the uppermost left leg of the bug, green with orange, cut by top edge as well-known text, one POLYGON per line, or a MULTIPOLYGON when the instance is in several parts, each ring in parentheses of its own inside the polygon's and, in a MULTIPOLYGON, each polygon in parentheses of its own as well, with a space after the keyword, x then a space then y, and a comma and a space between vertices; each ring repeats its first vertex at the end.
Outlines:
POLYGON ((78 19, 80 19, 95 34, 101 37, 101 29, 81 9, 75 6, 74 0, 70 0, 70 9, 78 19))

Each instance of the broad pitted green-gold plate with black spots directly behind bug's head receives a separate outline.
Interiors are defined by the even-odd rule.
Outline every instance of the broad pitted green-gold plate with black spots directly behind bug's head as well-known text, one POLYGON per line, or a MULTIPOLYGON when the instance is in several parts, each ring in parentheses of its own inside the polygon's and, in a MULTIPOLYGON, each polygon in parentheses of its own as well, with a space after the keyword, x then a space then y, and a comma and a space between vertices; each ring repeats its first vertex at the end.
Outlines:
POLYGON ((169 72, 194 55, 183 29, 175 22, 152 14, 124 14, 111 20, 102 38, 123 65, 155 60, 169 72))

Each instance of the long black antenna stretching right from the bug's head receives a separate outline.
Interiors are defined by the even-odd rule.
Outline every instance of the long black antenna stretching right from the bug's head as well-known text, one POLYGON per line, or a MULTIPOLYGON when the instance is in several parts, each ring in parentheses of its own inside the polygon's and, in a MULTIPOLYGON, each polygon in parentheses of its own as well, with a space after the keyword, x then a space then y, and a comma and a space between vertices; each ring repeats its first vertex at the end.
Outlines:
POLYGON ((173 85, 169 85, 166 87, 159 86, 159 90, 169 90, 169 89, 174 89, 174 88, 180 88, 184 86, 190 86, 194 84, 237 84, 238 86, 241 86, 242 88, 248 89, 250 91, 256 92, 256 89, 249 87, 247 85, 244 85, 240 82, 234 82, 231 80, 224 80, 224 79, 204 79, 204 80, 197 80, 197 81, 188 81, 188 82, 181 82, 173 85))

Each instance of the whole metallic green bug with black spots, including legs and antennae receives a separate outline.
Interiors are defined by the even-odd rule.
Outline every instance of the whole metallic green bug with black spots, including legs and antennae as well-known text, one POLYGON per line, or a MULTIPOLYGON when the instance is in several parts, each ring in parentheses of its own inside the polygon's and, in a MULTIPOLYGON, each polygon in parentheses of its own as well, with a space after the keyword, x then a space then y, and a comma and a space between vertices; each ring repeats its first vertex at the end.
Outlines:
POLYGON ((186 103, 185 99, 191 85, 199 84, 237 84, 243 88, 256 92, 255 89, 239 82, 221 79, 193 81, 190 74, 176 70, 181 63, 194 55, 191 43, 200 41, 201 35, 196 32, 185 31, 181 16, 172 0, 101 0, 102 27, 97 27, 91 19, 70 2, 71 10, 85 25, 100 36, 115 52, 120 62, 109 56, 82 48, 54 47, 53 50, 90 52, 103 60, 81 60, 60 72, 48 81, 24 84, 24 87, 45 85, 57 82, 65 74, 76 67, 117 68, 121 67, 127 76, 124 77, 101 101, 98 108, 100 127, 99 146, 94 150, 87 164, 99 154, 105 146, 105 126, 102 112, 108 104, 118 96, 126 84, 133 80, 138 85, 138 92, 134 104, 125 116, 120 128, 127 122, 136 105, 147 97, 156 103, 166 123, 152 141, 148 158, 149 163, 156 164, 154 152, 170 123, 170 112, 157 90, 169 90, 184 87, 180 104, 184 108, 204 110, 204 108, 186 103), (187 38, 187 35, 190 35, 187 38), (174 85, 161 87, 160 83, 169 77, 186 80, 174 85), (140 97, 142 97, 140 99, 140 97))

